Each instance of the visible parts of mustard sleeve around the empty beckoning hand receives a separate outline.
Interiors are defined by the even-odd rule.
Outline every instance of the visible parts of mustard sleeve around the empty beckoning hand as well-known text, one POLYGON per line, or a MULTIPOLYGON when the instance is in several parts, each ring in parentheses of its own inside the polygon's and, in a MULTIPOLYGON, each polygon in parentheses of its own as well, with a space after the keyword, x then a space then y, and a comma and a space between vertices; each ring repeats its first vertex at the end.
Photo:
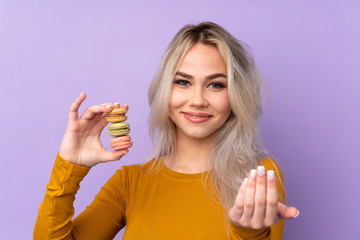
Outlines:
MULTIPOLYGON (((282 176, 282 172, 276 162, 271 159, 263 159, 261 165, 268 170, 274 170, 276 181, 277 181, 277 189, 279 194, 279 201, 285 203, 285 189, 284 189, 284 180, 282 176)), ((230 221, 230 239, 271 239, 271 240, 281 240, 284 232, 284 220, 279 221, 269 228, 263 228, 259 230, 253 229, 245 229, 236 226, 230 221)))

